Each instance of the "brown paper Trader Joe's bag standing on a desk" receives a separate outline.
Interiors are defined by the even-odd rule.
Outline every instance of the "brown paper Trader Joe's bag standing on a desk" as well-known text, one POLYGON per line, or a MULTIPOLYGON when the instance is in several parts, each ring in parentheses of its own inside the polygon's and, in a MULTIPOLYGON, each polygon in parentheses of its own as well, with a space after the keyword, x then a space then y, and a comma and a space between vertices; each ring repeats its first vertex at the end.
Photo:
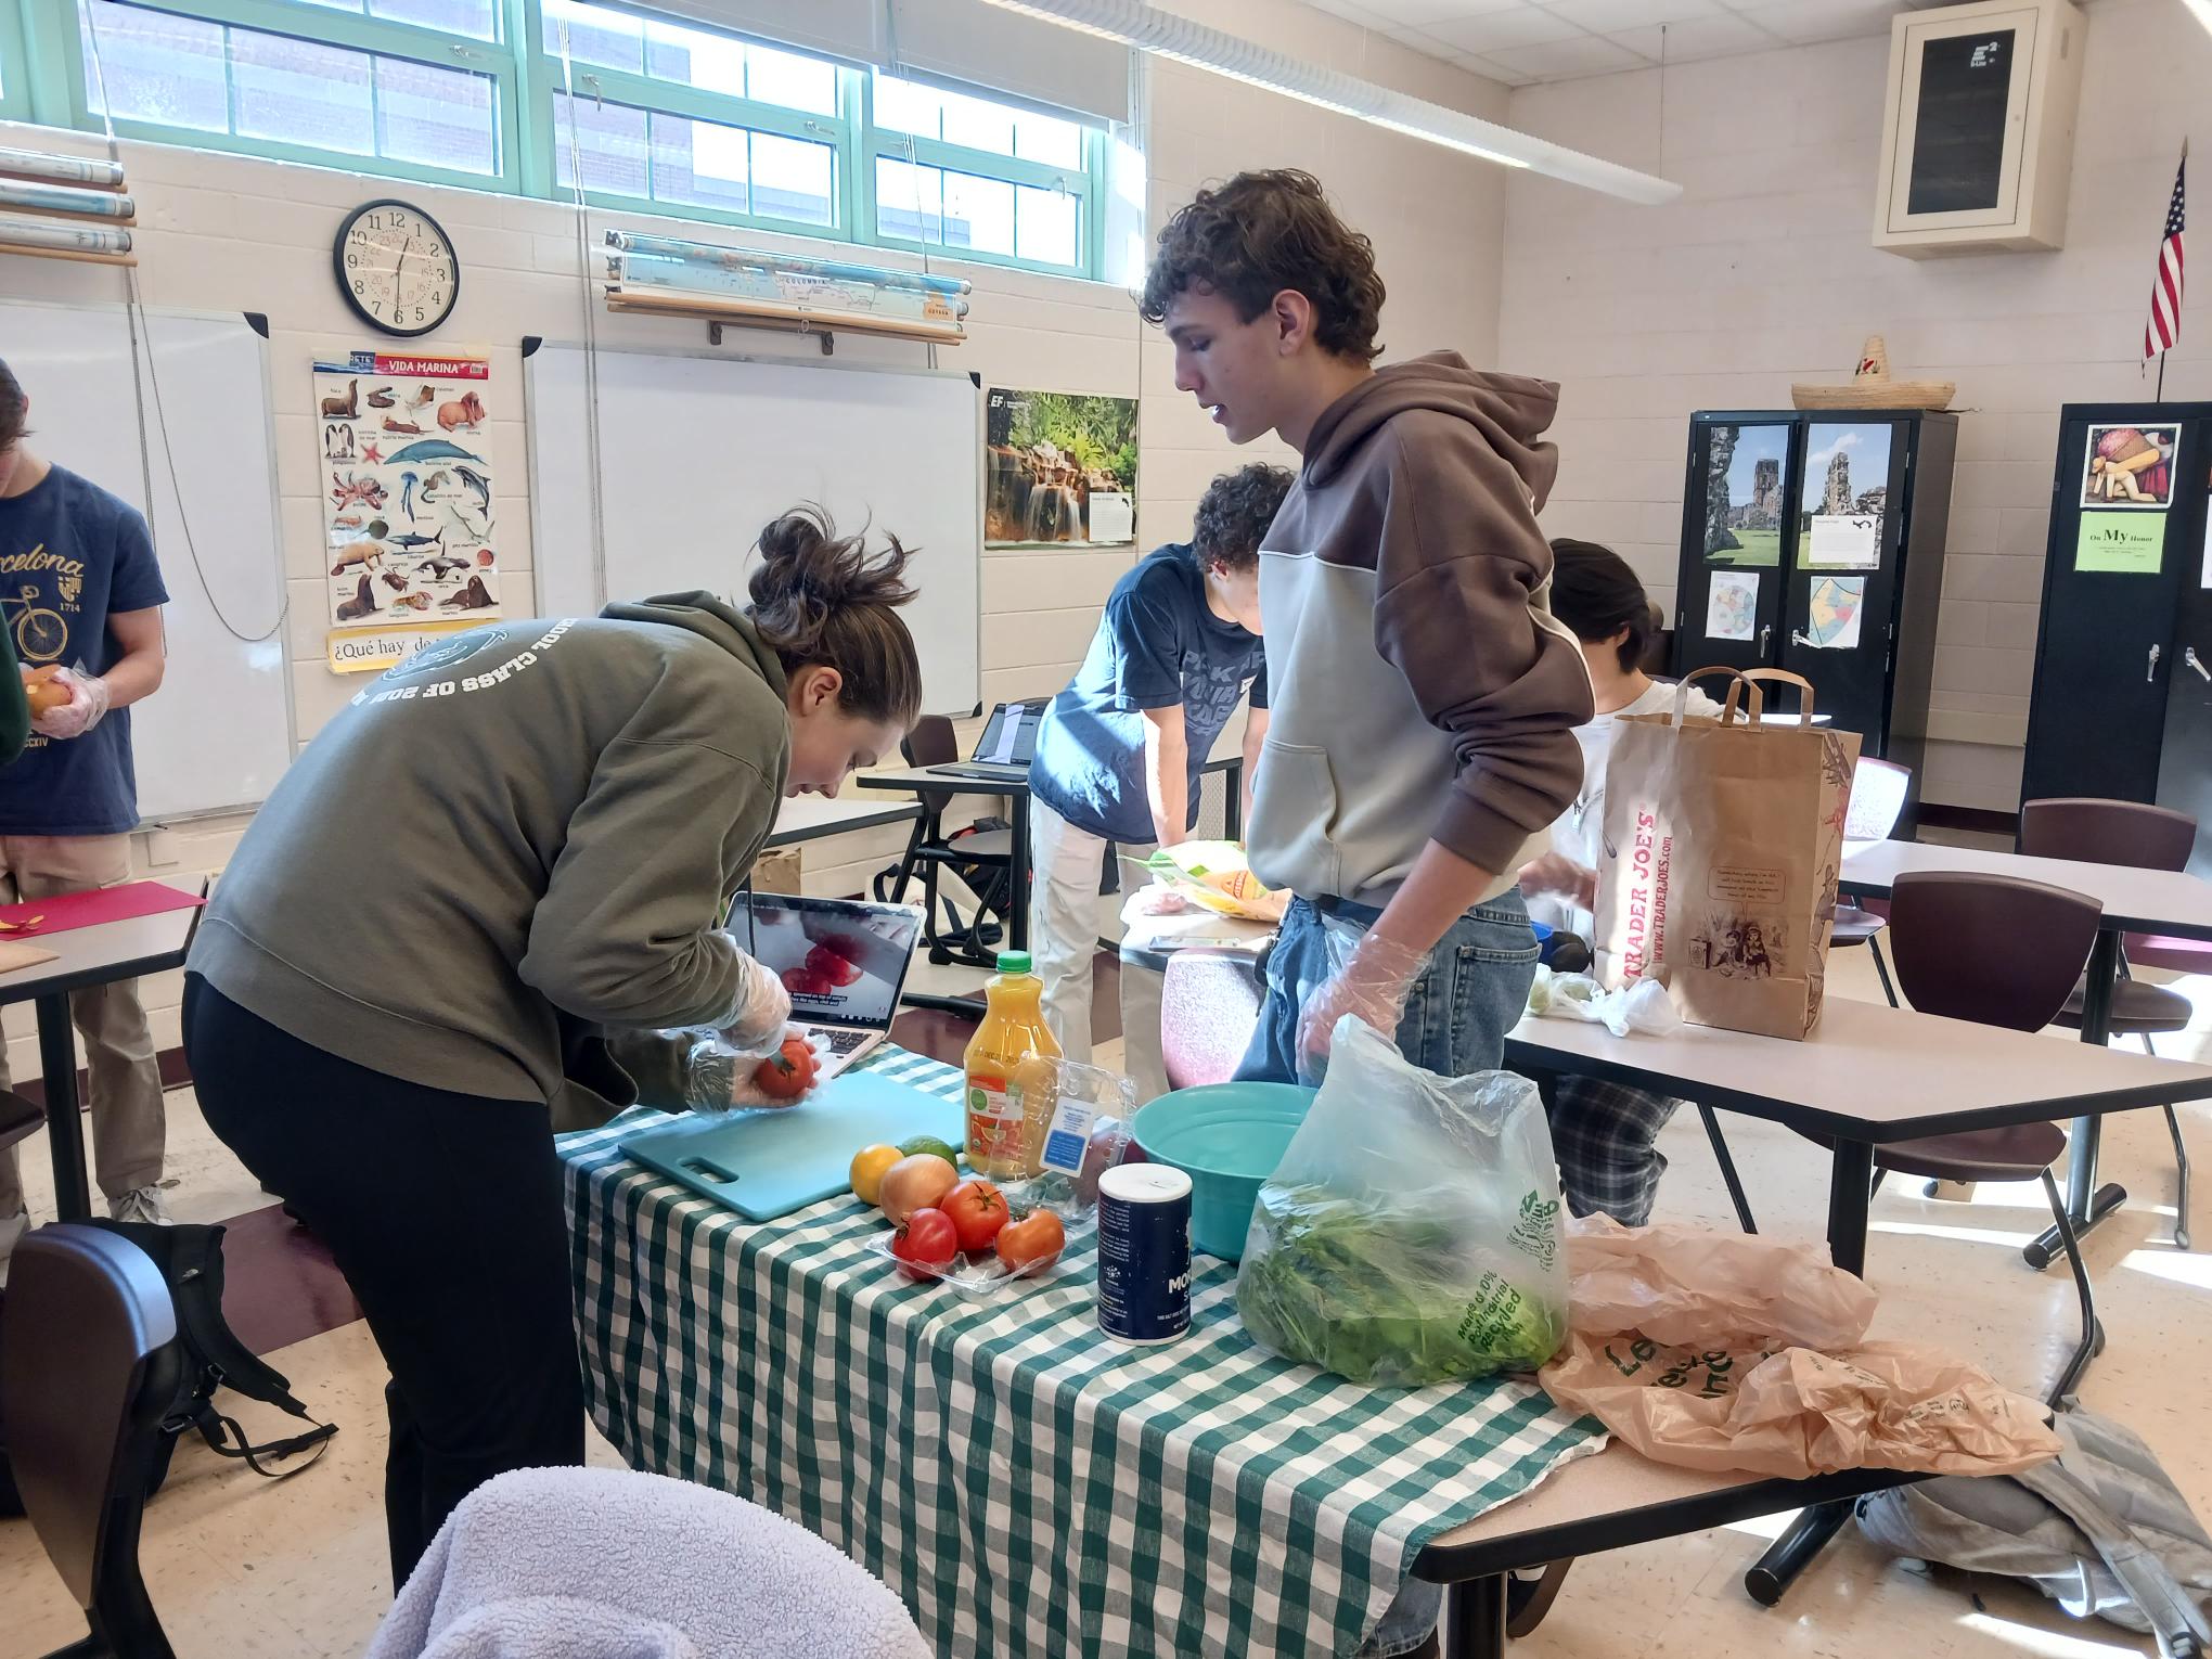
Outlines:
POLYGON ((1820 1020, 1827 933, 1858 734, 1816 728, 1814 690, 1778 668, 1701 668, 1668 714, 1624 714, 1606 768, 1597 978, 1657 975, 1683 1020, 1805 1037, 1820 1020), (1690 684, 1728 675, 1717 719, 1690 684), (1759 681, 1803 690, 1765 726, 1759 681))

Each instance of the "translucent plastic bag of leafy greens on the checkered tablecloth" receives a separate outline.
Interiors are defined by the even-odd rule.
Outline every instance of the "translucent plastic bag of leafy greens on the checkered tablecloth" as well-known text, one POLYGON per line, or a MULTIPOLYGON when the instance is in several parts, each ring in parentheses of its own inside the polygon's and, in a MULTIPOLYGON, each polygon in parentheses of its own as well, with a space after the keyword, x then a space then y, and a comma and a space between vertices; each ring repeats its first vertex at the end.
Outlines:
POLYGON ((1360 1020, 1261 1188, 1237 1272, 1261 1345, 1354 1383, 1533 1371, 1566 1340, 1559 1170, 1535 1084, 1436 1077, 1360 1020))

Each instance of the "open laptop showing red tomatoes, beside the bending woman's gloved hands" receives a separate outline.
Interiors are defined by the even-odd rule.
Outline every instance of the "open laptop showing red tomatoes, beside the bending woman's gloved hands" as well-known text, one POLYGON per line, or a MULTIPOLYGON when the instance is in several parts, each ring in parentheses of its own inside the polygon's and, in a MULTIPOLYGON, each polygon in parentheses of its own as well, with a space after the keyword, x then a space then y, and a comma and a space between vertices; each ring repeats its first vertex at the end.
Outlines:
POLYGON ((922 936, 916 905, 743 891, 730 931, 792 995, 792 1024, 836 1077, 891 1035, 922 936))

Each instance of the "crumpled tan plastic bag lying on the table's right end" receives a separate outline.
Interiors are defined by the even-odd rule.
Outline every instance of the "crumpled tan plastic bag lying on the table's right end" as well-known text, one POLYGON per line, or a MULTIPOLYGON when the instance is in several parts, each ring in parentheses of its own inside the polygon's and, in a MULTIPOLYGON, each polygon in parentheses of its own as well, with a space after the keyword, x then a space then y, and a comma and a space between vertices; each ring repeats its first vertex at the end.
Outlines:
POLYGON ((2059 1451, 2042 1402, 1936 1349, 1867 1343, 1874 1290, 1812 1245, 1593 1217, 1566 1256, 1573 1334, 1537 1380, 1652 1462, 2008 1475, 2059 1451))

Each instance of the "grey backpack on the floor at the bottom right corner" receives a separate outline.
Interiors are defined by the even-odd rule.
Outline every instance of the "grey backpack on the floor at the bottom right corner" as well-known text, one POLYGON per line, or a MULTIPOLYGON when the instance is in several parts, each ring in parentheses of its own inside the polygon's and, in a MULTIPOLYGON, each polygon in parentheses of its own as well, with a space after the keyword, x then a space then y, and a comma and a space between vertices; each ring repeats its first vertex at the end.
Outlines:
POLYGON ((2028 1579, 2070 1615, 2152 1632, 2166 1659, 2212 1646, 2212 1537, 2132 1431, 2088 1411, 2053 1422, 2064 1449, 2017 1475, 1944 1475, 1858 1500, 1893 1555, 2028 1579))

